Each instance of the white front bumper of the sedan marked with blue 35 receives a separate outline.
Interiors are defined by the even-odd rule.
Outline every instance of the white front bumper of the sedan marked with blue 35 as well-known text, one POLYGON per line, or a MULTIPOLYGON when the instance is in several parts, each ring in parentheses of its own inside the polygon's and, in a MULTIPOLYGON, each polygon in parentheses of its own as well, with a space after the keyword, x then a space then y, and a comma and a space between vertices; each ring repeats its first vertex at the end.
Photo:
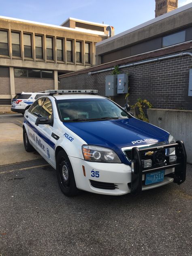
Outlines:
MULTIPOLYGON (((131 166, 122 163, 88 162, 71 156, 69 159, 73 167, 76 186, 80 190, 116 196, 131 193, 131 166), (92 171, 99 172, 99 177, 92 177, 92 171)), ((174 173, 174 168, 166 169, 164 181, 150 185, 143 184, 141 190, 148 190, 173 182, 173 178, 169 177, 171 173, 174 173)), ((143 174, 141 175, 141 182, 144 183, 144 180, 145 175, 143 174)))

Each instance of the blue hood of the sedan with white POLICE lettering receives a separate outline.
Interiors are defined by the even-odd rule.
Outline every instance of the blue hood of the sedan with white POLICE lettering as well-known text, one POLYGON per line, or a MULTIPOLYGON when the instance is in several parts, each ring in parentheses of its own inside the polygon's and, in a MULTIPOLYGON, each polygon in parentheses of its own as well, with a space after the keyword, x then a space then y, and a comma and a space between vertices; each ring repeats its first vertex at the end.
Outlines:
POLYGON ((134 117, 105 121, 64 122, 63 124, 87 144, 109 147, 115 151, 117 148, 157 143, 169 139, 169 132, 134 117))

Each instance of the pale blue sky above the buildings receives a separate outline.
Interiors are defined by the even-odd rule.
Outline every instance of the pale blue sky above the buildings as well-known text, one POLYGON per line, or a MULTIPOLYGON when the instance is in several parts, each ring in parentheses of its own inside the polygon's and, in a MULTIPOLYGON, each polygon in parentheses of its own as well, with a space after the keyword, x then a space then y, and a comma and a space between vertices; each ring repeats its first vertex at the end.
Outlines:
MULTIPOLYGON (((192 0, 179 0, 179 7, 192 0)), ((68 17, 115 28, 115 34, 155 17, 155 0, 0 0, 0 16, 61 25, 68 17)))

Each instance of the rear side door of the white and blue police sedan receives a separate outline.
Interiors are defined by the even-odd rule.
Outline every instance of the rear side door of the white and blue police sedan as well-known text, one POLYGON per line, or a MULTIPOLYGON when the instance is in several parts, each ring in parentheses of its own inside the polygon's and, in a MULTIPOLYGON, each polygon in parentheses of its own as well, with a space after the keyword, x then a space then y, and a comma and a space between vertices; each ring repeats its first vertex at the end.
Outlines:
POLYGON ((26 123, 27 127, 27 134, 28 139, 33 145, 34 148, 36 148, 36 135, 37 135, 37 129, 36 129, 36 119, 39 117, 41 106, 43 105, 43 98, 36 100, 28 113, 24 116, 24 123, 26 123))

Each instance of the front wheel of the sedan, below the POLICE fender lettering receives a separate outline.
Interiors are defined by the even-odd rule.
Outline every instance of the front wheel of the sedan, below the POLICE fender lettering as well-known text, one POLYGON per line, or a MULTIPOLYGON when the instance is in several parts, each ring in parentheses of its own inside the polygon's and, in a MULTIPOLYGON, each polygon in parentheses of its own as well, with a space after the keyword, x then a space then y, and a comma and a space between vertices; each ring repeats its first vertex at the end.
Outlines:
POLYGON ((64 150, 59 151, 56 157, 56 173, 62 192, 66 196, 76 196, 79 190, 76 187, 73 168, 64 150))

